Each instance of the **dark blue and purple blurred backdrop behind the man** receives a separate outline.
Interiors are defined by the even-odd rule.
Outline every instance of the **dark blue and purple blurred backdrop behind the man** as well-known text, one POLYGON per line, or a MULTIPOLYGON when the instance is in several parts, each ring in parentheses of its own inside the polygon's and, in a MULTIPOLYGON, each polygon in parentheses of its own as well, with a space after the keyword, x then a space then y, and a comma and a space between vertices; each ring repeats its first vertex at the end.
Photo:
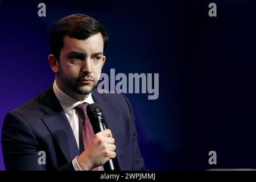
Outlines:
MULTIPOLYGON (((126 94, 151 170, 256 168, 254 1, 2 1, 1 110, 47 89, 51 24, 84 13, 109 34, 102 72, 159 73, 159 98, 126 94), (47 16, 38 16, 38 3, 47 16), (217 17, 208 16, 210 2, 217 17), (217 152, 217 165, 208 152, 217 152)), ((0 146, 1 148, 1 146, 0 146)), ((4 169, 0 150, 0 169, 4 169)))

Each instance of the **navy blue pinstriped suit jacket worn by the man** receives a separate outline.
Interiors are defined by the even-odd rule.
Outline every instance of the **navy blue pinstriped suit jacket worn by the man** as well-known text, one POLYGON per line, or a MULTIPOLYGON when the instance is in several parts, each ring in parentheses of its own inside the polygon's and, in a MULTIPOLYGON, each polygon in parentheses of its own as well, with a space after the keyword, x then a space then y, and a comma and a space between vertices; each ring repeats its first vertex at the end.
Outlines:
MULTIPOLYGON (((101 107, 106 127, 112 131, 119 169, 144 169, 127 98, 123 94, 100 94, 97 89, 92 97, 101 107)), ((7 170, 74 170, 72 160, 79 155, 79 148, 52 85, 6 115, 2 150, 7 170), (46 152, 46 164, 38 163, 39 151, 46 152)))

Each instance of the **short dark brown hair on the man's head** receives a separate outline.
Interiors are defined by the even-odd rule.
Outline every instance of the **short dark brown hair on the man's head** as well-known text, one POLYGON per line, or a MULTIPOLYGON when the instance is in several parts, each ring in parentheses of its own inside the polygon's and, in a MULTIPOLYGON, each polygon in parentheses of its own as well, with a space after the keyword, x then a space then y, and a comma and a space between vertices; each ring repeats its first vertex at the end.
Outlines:
POLYGON ((108 44, 108 34, 100 22, 84 14, 65 16, 57 20, 51 28, 49 33, 50 51, 59 60, 64 36, 85 40, 98 32, 102 35, 105 49, 108 44))

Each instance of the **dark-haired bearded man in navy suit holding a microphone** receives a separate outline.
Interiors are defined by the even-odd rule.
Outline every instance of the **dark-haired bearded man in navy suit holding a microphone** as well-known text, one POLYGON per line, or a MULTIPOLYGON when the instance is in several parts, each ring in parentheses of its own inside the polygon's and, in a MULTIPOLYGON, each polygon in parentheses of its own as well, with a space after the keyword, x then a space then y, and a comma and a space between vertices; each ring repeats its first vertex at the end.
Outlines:
POLYGON ((100 94, 96 89, 106 60, 105 28, 87 15, 65 16, 52 27, 49 43, 48 62, 55 81, 6 115, 2 127, 6 169, 102 170, 109 159, 120 170, 144 169, 129 101, 122 94, 100 94), (95 135, 81 110, 94 102, 108 128, 95 135))

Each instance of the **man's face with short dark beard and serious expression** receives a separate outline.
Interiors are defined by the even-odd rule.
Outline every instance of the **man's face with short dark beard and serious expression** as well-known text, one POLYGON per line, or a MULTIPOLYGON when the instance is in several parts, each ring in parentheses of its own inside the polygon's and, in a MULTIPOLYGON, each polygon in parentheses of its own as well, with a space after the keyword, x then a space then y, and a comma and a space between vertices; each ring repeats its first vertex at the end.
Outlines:
POLYGON ((63 43, 57 72, 61 88, 89 94, 97 85, 106 59, 102 35, 94 34, 85 40, 65 36, 63 43))

